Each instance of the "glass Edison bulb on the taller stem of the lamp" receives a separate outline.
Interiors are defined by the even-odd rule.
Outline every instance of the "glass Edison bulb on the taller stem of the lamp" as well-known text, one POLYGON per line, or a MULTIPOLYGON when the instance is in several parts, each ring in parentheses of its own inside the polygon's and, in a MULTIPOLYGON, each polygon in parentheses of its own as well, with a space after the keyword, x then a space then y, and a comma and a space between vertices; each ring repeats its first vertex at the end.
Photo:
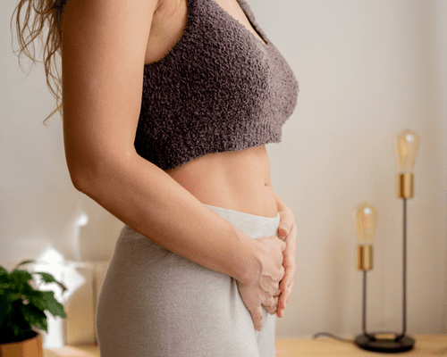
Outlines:
POLYGON ((405 129, 397 137, 395 151, 401 172, 413 170, 416 162, 419 137, 410 129, 405 129))

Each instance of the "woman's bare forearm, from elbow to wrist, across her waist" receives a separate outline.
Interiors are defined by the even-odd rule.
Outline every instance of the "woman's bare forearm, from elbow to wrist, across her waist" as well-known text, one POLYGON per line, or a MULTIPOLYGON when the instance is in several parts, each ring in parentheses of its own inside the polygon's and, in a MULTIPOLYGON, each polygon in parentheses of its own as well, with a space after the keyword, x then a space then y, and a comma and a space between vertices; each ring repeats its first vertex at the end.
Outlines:
POLYGON ((139 155, 97 164, 78 176, 83 179, 75 187, 156 244, 240 281, 259 274, 249 236, 139 155))

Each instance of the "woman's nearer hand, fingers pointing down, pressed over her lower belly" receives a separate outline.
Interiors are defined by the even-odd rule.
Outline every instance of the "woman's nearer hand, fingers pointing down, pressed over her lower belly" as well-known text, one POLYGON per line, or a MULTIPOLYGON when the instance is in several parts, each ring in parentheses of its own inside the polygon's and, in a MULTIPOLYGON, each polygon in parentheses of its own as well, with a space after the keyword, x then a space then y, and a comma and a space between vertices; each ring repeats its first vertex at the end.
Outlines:
POLYGON ((251 241, 257 247, 257 275, 249 281, 236 280, 240 297, 251 314, 255 329, 263 326, 261 305, 274 314, 280 281, 284 277, 283 251, 286 244, 278 237, 261 237, 251 241))

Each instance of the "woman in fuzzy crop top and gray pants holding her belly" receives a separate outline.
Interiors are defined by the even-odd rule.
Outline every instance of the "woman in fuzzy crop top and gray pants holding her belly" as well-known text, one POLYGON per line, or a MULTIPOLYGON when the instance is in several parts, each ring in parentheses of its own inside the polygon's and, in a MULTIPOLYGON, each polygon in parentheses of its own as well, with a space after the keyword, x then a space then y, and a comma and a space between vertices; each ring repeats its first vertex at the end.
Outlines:
POLYGON ((101 355, 273 357, 297 235, 265 146, 296 105, 283 56, 244 0, 38 5, 47 76, 62 54, 73 185, 125 223, 97 304, 101 355))

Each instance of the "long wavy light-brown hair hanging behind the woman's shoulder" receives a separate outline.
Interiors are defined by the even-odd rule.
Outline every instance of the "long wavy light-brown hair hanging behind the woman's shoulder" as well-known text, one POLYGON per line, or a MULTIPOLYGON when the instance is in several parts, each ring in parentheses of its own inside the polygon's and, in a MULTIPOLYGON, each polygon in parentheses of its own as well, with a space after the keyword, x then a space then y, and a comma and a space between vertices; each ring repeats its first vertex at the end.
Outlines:
MULTIPOLYGON (((38 62, 35 57, 34 40, 40 38, 41 46, 43 46, 43 62, 45 64, 46 86, 51 94, 55 97, 56 108, 46 119, 50 118, 55 112, 59 111, 63 118, 62 105, 62 76, 57 66, 57 54, 62 55, 62 25, 63 25, 63 9, 67 0, 20 0, 13 12, 10 28, 12 29, 14 13, 17 12, 15 27, 17 30, 17 39, 19 41, 20 56, 26 54, 34 63, 38 62), (23 23, 21 23, 21 11, 24 6, 26 8, 23 23), (31 14, 34 19, 31 23, 31 14), (48 33, 44 42, 44 29, 48 25, 48 33), (32 54, 30 52, 32 48, 32 54)), ((12 30, 13 31, 13 30, 12 30)), ((17 54, 13 49, 14 54, 17 54)))

